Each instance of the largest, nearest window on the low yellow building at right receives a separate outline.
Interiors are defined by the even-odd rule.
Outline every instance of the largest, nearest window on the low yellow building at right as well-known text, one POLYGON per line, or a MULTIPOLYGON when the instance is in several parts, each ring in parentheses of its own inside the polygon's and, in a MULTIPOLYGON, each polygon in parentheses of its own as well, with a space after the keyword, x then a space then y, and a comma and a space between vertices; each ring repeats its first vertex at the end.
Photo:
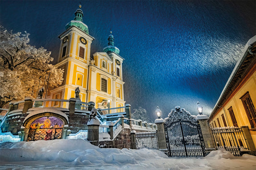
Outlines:
POLYGON ((251 127, 256 127, 256 110, 250 97, 249 91, 247 91, 240 99, 243 102, 244 110, 247 114, 251 127))

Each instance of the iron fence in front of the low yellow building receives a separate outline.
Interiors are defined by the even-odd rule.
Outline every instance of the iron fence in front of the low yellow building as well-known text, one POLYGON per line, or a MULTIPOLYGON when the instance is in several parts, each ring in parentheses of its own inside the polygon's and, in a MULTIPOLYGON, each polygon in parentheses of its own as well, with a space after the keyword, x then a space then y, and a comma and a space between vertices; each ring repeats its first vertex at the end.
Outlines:
POLYGON ((217 148, 225 148, 234 156, 241 156, 241 148, 248 149, 247 140, 242 128, 217 127, 212 128, 212 134, 217 148))

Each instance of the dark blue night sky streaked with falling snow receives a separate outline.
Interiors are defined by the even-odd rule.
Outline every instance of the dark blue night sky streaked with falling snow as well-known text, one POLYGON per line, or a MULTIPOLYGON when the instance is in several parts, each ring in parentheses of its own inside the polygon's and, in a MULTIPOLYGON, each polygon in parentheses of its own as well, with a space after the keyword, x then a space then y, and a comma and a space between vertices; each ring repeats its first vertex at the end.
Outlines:
POLYGON ((124 100, 146 109, 152 120, 179 105, 210 114, 242 54, 256 34, 256 1, 5 1, 0 24, 30 33, 30 44, 57 61, 66 23, 82 5, 95 37, 91 56, 107 46, 110 29, 123 62, 124 100))

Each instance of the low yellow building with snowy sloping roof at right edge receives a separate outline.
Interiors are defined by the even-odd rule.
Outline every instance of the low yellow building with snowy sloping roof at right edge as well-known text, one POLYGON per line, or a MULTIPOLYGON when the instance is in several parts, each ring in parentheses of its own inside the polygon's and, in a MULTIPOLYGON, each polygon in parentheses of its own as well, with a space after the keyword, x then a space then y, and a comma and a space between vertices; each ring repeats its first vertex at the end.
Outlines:
POLYGON ((256 36, 245 45, 208 123, 212 128, 248 126, 256 147, 256 36))

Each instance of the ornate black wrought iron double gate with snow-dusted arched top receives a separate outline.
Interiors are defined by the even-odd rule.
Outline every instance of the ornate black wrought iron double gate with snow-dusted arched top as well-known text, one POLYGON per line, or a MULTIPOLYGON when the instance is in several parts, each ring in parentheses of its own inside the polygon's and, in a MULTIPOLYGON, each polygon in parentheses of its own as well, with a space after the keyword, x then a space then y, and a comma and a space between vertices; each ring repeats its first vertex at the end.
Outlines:
POLYGON ((205 144, 196 118, 176 106, 164 124, 170 157, 204 157, 205 144))

